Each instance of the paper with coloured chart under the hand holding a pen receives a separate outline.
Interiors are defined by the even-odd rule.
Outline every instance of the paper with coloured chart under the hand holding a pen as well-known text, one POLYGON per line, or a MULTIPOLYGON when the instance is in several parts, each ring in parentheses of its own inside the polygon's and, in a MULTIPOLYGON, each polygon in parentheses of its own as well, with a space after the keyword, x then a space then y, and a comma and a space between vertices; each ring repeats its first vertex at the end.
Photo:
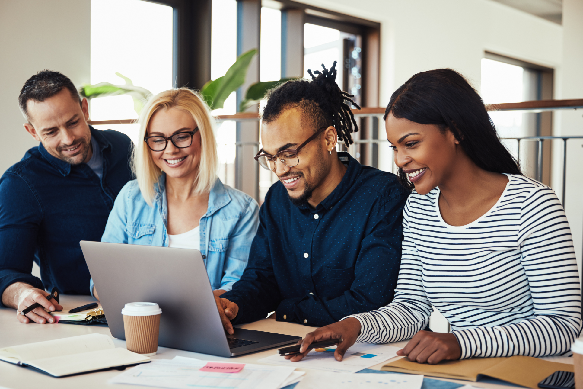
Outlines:
POLYGON ((368 343, 355 343, 350 347, 342 362, 334 359, 334 351, 336 346, 326 347, 323 349, 314 349, 300 360, 300 362, 291 362, 284 359, 283 356, 275 354, 264 359, 259 359, 259 362, 275 363, 276 365, 303 367, 304 369, 325 370, 327 372, 336 373, 356 373, 362 369, 367 369, 385 362, 397 355, 397 351, 401 348, 394 346, 379 346, 368 343))

